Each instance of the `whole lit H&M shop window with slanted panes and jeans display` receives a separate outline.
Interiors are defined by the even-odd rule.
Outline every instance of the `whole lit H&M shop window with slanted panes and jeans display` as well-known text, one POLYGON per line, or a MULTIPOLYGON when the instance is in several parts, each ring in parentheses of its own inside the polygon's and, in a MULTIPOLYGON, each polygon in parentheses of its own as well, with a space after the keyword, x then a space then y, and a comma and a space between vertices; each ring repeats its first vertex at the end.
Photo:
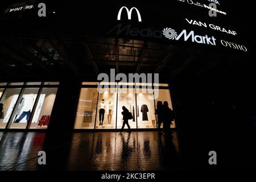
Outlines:
POLYGON ((46 129, 48 127, 57 88, 34 88, 35 85, 41 85, 41 82, 37 83, 9 83, 6 88, 0 89, 0 129, 46 129), (32 88, 27 85, 32 85, 32 88), (10 86, 17 88, 10 88, 10 86))

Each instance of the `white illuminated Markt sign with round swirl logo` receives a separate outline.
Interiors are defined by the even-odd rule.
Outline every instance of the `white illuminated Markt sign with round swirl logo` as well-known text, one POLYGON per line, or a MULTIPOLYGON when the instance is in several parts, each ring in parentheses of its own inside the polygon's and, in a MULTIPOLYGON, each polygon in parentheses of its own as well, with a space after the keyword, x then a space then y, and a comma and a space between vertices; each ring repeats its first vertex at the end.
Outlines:
POLYGON ((172 39, 172 40, 179 40, 182 36, 184 36, 184 41, 187 41, 189 38, 191 38, 192 42, 216 46, 216 43, 215 43, 216 39, 214 38, 214 36, 210 38, 208 37, 208 35, 205 35, 205 36, 195 35, 194 31, 190 31, 189 34, 187 34, 187 30, 183 30, 177 36, 177 32, 175 30, 172 30, 171 28, 164 28, 163 35, 166 38, 172 39))

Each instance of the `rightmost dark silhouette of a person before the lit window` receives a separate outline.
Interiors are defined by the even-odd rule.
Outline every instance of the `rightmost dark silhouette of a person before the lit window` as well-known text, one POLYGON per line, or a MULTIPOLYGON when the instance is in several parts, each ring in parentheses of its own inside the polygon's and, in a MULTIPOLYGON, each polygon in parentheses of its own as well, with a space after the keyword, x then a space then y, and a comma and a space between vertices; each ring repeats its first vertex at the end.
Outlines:
POLYGON ((171 134, 170 127, 171 121, 174 119, 173 111, 168 107, 168 102, 164 101, 163 103, 163 126, 164 134, 171 134))

